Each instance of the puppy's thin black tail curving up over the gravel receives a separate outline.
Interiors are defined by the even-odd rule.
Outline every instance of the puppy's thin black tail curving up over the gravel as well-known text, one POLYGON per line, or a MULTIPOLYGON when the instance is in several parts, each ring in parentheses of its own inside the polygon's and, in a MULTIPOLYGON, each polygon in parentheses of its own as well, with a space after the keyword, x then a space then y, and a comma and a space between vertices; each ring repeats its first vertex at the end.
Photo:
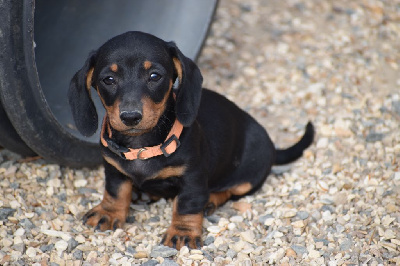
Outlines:
POLYGON ((275 165, 288 164, 300 158, 303 155, 303 151, 314 141, 314 134, 314 126, 311 122, 308 122, 306 132, 304 132, 299 142, 287 149, 276 150, 275 165))

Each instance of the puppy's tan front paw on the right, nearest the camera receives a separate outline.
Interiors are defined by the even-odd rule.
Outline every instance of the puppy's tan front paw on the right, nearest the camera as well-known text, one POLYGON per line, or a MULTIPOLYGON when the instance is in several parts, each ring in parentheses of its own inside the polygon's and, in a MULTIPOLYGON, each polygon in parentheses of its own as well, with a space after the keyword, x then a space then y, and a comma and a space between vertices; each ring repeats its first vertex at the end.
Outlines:
POLYGON ((198 230, 193 231, 190 228, 170 226, 165 232, 161 244, 177 250, 180 250, 183 246, 200 249, 203 246, 203 241, 201 240, 201 232, 196 231, 198 230))

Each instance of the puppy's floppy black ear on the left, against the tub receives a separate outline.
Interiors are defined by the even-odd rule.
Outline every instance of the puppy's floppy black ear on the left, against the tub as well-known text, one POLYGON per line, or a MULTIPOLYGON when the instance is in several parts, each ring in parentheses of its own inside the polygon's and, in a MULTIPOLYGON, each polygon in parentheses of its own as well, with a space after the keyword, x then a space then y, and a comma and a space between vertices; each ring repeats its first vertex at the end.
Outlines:
POLYGON ((93 135, 98 126, 96 107, 90 93, 95 60, 96 52, 92 52, 85 65, 71 79, 68 90, 68 101, 76 127, 86 137, 93 135))

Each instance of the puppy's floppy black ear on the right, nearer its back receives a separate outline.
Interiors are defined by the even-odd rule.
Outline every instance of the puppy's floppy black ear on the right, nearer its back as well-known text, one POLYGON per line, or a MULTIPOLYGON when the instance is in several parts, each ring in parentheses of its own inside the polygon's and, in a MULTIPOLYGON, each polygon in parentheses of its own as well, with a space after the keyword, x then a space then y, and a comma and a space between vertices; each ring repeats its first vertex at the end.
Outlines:
POLYGON ((200 106, 203 76, 198 66, 182 54, 174 42, 168 43, 179 87, 176 90, 175 113, 183 126, 190 126, 197 116, 200 106))

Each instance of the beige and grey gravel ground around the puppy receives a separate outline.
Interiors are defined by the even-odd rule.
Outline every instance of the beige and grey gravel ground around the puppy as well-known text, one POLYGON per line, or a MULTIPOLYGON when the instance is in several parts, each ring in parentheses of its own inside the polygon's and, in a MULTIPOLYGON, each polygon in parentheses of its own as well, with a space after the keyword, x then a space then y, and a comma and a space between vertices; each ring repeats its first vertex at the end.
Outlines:
POLYGON ((280 147, 312 120, 315 144, 205 219, 201 250, 180 251, 158 246, 170 201, 94 233, 80 218, 102 198, 102 167, 2 150, 0 265, 400 265, 399 43, 399 0, 221 0, 205 86, 280 147))

